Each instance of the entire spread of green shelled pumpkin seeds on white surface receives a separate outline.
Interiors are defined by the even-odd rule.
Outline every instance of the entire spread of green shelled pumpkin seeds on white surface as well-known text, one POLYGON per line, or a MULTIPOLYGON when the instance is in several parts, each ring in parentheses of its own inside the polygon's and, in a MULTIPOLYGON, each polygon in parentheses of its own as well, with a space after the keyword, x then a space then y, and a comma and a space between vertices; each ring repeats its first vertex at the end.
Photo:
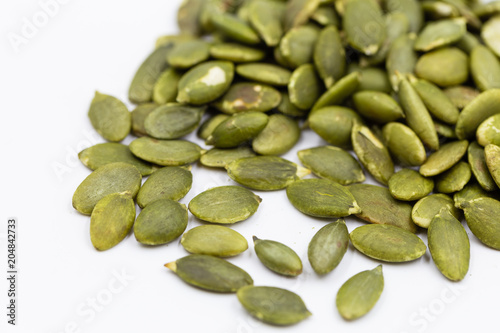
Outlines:
MULTIPOLYGON (((96 249, 132 229, 148 245, 182 236, 191 254, 166 267, 198 288, 237 293, 275 325, 311 313, 295 293, 253 286, 221 258, 248 249, 226 225, 257 211, 251 190, 286 189, 297 214, 332 219, 309 244, 317 274, 335 269, 349 242, 377 261, 416 260, 427 233, 437 268, 462 280, 463 217, 500 250, 500 1, 185 0, 178 23, 180 34, 158 38, 133 78, 132 112, 101 93, 91 103, 90 121, 109 142, 80 153, 95 171, 73 206, 91 216, 96 249), (324 145, 299 151, 303 166, 281 158, 309 129, 324 145), (196 130, 210 150, 182 140, 196 130), (130 133, 137 138, 120 144, 130 133), (195 162, 242 186, 178 203, 195 162), (366 173, 380 184, 362 184, 366 173), (207 224, 184 232, 188 210, 207 224), (369 224, 349 234, 351 215, 369 224)), ((277 274, 303 271, 285 244, 254 237, 254 251, 277 274)), ((360 272, 339 289, 339 313, 365 315, 383 288, 381 265, 360 272)))

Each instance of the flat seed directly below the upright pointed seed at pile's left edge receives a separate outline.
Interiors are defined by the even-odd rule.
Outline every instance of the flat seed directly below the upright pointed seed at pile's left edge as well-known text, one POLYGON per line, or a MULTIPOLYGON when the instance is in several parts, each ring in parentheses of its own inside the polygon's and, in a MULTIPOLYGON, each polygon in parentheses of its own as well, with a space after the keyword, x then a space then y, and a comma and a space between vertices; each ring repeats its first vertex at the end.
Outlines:
POLYGON ((144 161, 141 161, 132 153, 128 146, 120 143, 100 143, 90 148, 82 150, 78 154, 82 163, 91 170, 115 162, 124 162, 135 166, 141 175, 148 176, 153 173, 155 168, 144 161))

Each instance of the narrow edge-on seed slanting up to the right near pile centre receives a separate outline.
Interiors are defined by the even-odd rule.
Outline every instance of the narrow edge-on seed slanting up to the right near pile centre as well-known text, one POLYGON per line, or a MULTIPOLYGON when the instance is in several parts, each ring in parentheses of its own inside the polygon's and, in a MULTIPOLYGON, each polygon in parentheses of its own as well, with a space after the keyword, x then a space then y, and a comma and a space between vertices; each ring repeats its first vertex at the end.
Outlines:
POLYGON ((358 89, 360 82, 361 75, 358 72, 344 76, 318 98, 311 109, 311 114, 325 106, 341 104, 358 89))

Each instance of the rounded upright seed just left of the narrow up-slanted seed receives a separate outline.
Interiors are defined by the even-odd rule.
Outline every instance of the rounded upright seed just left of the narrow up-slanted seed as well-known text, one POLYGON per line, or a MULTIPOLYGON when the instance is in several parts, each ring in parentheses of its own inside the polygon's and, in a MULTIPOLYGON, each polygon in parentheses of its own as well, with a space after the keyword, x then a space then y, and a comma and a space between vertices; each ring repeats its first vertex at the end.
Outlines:
POLYGON ((288 93, 293 105, 302 110, 310 109, 323 91, 313 65, 298 67, 288 83, 288 93))

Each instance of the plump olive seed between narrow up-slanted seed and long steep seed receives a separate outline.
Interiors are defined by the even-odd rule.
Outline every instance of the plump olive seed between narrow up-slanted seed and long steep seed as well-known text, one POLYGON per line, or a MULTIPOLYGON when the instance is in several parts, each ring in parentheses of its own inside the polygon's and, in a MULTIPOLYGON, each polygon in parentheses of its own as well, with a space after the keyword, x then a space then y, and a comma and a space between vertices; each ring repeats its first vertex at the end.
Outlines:
MULTIPOLYGON (((385 124, 405 115, 391 96, 379 91, 361 91, 352 96, 356 111, 373 122, 385 124)), ((458 113, 458 111, 457 111, 458 113)))

